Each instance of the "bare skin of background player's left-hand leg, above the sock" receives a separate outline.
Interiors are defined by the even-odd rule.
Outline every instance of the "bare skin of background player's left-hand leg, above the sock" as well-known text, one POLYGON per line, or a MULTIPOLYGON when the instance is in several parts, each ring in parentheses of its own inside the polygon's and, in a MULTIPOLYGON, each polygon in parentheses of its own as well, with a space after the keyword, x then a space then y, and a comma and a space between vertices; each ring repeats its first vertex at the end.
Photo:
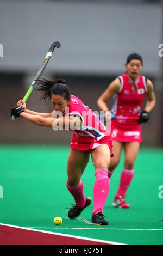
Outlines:
POLYGON ((122 148, 123 148, 123 142, 119 141, 112 141, 112 153, 114 154, 114 157, 110 160, 110 165, 108 169, 108 177, 111 178, 112 173, 114 169, 117 167, 118 163, 120 162, 122 148))

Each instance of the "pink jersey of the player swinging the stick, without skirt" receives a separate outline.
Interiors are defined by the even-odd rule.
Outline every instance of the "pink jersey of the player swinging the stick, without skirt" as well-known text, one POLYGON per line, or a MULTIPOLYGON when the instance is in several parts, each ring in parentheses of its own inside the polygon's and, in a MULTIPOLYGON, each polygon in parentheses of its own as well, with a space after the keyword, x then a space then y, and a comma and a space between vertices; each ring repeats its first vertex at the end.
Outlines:
POLYGON ((74 95, 71 95, 65 115, 78 116, 83 121, 83 126, 73 132, 73 138, 79 143, 98 142, 104 136, 109 135, 108 129, 98 119, 97 115, 74 95))

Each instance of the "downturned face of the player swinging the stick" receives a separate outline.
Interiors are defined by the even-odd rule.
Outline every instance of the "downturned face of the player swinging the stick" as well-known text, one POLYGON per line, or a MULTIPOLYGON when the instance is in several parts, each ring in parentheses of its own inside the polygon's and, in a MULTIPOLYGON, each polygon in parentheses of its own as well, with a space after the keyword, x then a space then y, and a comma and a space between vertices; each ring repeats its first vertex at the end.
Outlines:
POLYGON ((68 102, 69 101, 65 100, 63 96, 55 94, 52 95, 51 103, 55 111, 63 113, 65 111, 65 107, 68 106, 68 102))

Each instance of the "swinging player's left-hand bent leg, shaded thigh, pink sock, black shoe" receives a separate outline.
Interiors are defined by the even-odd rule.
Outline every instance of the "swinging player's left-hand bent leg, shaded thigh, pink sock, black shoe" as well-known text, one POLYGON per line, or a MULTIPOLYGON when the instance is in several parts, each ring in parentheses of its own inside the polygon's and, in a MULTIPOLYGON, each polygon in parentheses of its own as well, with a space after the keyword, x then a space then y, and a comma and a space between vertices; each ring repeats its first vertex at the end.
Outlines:
POLYGON ((80 150, 70 149, 67 163, 67 188, 72 194, 76 205, 73 205, 68 212, 69 218, 78 217, 82 210, 92 202, 91 198, 85 197, 84 185, 82 180, 80 180, 89 162, 89 155, 89 153, 84 153, 80 150))

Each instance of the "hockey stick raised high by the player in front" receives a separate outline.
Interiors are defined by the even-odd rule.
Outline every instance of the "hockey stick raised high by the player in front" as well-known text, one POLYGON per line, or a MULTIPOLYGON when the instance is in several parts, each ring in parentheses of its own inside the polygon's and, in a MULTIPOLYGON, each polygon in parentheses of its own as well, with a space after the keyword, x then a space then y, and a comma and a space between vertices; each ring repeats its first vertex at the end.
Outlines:
MULTIPOLYGON (((47 52, 47 54, 45 56, 45 59, 43 60, 43 63, 41 65, 39 71, 37 72, 32 84, 30 85, 30 87, 29 87, 26 95, 23 97, 22 101, 26 102, 28 100, 28 97, 32 93, 37 80, 39 80, 40 76, 43 73, 43 70, 45 70, 46 65, 48 64, 49 59, 52 57, 52 53, 53 53, 55 47, 59 48, 60 46, 61 46, 60 42, 58 42, 58 41, 53 42, 53 44, 51 45, 51 47, 49 48, 49 51, 47 52)), ((11 119, 15 121, 16 117, 14 115, 12 115, 11 119)))

